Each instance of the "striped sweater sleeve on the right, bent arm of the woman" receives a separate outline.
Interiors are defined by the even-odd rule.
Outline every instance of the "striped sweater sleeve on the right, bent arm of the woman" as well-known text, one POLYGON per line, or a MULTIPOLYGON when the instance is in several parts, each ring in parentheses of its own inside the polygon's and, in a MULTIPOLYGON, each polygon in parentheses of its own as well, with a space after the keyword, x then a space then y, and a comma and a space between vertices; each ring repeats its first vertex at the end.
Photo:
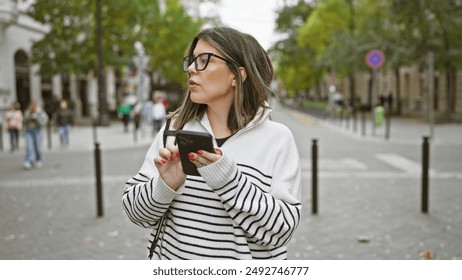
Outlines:
POLYGON ((271 174, 255 166, 236 164, 223 157, 200 169, 207 184, 220 196, 232 219, 247 238, 265 246, 286 245, 301 213, 301 171, 298 150, 291 137, 282 140, 271 174))

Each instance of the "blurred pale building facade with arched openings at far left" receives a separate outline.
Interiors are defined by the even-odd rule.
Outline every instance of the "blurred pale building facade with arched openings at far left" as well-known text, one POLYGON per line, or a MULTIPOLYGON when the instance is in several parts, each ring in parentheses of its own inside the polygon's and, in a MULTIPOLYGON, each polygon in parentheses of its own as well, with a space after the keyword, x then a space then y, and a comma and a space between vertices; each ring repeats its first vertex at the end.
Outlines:
MULTIPOLYGON (((77 119, 96 118, 98 114, 97 79, 88 75, 43 77, 38 65, 30 63, 34 42, 49 32, 49 27, 27 15, 34 0, 0 0, 0 115, 12 103, 25 110, 31 101, 45 109, 67 99, 77 119)), ((116 77, 105 69, 106 94, 110 111, 116 109, 116 77)))

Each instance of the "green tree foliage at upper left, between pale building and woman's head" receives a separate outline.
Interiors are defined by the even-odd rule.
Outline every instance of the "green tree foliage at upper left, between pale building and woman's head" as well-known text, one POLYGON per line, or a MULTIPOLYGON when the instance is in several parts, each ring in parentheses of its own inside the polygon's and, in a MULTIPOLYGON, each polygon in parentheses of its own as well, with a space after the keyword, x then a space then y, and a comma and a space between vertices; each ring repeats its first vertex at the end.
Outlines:
MULTIPOLYGON (((96 1, 38 0, 29 15, 50 27, 35 42, 32 61, 44 75, 96 71, 96 1)), ((141 42, 151 67, 170 82, 184 79, 181 60, 202 22, 191 18, 179 0, 166 0, 162 13, 157 0, 102 1, 103 63, 120 68, 132 63, 134 43, 141 42)))

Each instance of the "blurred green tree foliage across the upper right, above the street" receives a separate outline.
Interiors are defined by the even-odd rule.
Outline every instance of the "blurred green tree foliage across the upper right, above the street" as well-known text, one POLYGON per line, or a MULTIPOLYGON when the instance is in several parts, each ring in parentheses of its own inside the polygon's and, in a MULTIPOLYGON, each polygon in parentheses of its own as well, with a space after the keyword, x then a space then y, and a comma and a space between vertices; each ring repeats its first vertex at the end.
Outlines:
POLYGON ((367 71, 370 49, 385 53, 384 68, 426 67, 429 50, 443 73, 462 66, 460 0, 299 0, 278 11, 287 38, 271 49, 288 92, 312 88, 328 69, 340 79, 367 71))

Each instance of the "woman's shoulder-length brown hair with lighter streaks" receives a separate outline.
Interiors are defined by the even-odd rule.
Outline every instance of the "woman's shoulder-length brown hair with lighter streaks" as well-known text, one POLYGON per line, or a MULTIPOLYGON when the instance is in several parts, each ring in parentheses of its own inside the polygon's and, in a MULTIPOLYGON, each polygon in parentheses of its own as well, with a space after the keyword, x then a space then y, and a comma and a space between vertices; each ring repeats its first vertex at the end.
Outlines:
MULTIPOLYGON (((245 127, 260 108, 267 109, 265 100, 272 95, 271 82, 274 69, 268 54, 258 41, 249 34, 230 27, 205 29, 194 37, 186 55, 193 56, 199 40, 207 41, 228 60, 228 67, 237 77, 233 104, 228 115, 228 128, 236 132, 245 127), (245 80, 240 68, 247 73, 245 80)), ((183 127, 194 118, 202 118, 207 105, 196 104, 190 99, 189 90, 180 106, 167 118, 175 118, 174 127, 183 127)))

